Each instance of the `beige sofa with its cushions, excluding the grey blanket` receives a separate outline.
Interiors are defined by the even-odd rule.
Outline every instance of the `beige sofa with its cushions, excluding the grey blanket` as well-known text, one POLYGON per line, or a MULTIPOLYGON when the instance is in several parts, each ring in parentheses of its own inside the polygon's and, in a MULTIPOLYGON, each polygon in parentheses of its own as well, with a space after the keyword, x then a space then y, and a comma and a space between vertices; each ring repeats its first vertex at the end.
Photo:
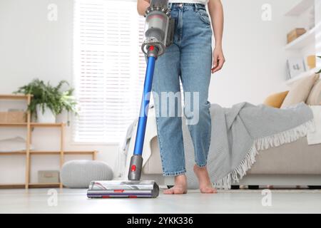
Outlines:
MULTIPOLYGON (((321 80, 318 76, 310 76, 297 81, 295 85, 290 87, 290 91, 277 93, 280 99, 277 102, 271 102, 270 98, 275 99, 275 95, 265 100, 266 105, 275 108, 286 107, 300 103, 302 101, 312 100, 311 93, 316 98, 308 105, 321 105, 321 80), (311 78, 313 78, 311 80, 311 78), (308 78, 310 78, 310 86, 307 86, 308 78), (294 93, 302 93, 305 95, 297 95, 294 93)), ((273 101, 273 100, 272 100, 273 101)), ((146 179, 148 176, 158 180, 164 185, 173 185, 173 177, 162 177, 161 158, 159 154, 157 137, 150 140, 151 156, 148 162, 143 166, 143 175, 146 179)), ((310 187, 321 186, 321 144, 307 145, 307 138, 299 140, 279 147, 272 147, 268 150, 260 151, 256 156, 256 162, 248 170, 247 175, 240 182, 233 183, 238 185, 249 185, 250 188, 258 188, 259 185, 307 185, 310 187)))

